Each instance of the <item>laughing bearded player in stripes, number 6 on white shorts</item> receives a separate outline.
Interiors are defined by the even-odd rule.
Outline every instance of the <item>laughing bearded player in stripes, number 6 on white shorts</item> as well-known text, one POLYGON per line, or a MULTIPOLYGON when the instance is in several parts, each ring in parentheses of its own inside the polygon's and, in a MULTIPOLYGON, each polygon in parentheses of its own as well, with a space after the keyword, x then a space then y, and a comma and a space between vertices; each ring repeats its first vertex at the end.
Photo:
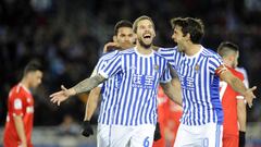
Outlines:
POLYGON ((110 146, 151 147, 157 123, 157 88, 159 83, 165 94, 182 103, 178 79, 171 84, 167 61, 153 51, 154 24, 148 16, 138 17, 133 25, 137 35, 136 46, 121 51, 94 77, 86 78, 72 88, 52 94, 51 101, 60 105, 70 96, 88 91, 99 83, 121 75, 121 84, 113 106, 110 127, 110 146))

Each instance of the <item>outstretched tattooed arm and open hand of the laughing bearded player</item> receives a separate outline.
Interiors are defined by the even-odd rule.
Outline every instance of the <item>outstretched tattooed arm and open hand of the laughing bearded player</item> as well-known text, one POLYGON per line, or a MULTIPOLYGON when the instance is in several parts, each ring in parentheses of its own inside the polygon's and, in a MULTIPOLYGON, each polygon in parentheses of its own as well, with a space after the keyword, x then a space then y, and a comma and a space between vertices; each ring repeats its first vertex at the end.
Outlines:
POLYGON ((60 103, 62 101, 66 100, 71 96, 74 96, 74 95, 77 95, 80 93, 85 93, 85 91, 89 91, 104 81, 105 81, 105 78, 102 75, 97 74, 92 77, 82 81, 80 83, 76 84, 74 87, 69 88, 69 89, 62 85, 61 86, 62 90, 50 95, 51 102, 58 103, 58 106, 60 106, 60 103))

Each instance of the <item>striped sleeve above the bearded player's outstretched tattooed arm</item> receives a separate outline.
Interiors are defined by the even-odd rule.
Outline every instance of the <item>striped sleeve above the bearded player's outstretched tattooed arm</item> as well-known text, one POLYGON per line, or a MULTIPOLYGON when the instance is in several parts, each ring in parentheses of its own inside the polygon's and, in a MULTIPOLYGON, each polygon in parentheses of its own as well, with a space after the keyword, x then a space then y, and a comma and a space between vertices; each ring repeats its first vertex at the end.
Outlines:
POLYGON ((113 59, 98 70, 98 73, 105 78, 109 78, 122 70, 122 53, 117 53, 113 59))

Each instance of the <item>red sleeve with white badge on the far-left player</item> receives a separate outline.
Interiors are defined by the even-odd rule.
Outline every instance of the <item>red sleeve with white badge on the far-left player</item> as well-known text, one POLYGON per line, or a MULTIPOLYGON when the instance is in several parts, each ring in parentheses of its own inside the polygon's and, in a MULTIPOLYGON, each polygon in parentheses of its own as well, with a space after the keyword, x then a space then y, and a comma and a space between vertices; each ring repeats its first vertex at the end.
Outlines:
POLYGON ((13 94, 10 96, 10 113, 12 115, 23 115, 23 95, 22 94, 13 94))

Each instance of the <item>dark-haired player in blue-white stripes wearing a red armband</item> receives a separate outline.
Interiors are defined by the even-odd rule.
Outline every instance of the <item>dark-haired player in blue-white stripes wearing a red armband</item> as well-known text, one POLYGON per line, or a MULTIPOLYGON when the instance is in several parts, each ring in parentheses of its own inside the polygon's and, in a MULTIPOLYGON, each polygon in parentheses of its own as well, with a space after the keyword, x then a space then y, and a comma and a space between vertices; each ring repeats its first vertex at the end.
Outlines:
POLYGON ((200 45, 204 34, 201 20, 176 17, 171 21, 177 47, 161 48, 177 71, 183 90, 183 117, 175 147, 222 146, 223 110, 219 95, 220 78, 240 93, 252 106, 257 87, 247 89, 223 64, 221 57, 200 45), (186 136, 186 137, 184 137, 186 136))

